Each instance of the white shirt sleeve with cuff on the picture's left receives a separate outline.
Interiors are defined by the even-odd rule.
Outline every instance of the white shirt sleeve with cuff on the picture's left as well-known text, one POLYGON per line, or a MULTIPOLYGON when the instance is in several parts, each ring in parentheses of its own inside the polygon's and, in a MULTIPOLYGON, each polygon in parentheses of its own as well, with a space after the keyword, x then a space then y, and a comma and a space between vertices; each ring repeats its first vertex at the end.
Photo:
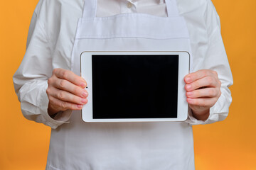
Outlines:
POLYGON ((51 43, 48 38, 45 22, 39 19, 45 1, 38 2, 28 30, 26 54, 20 67, 14 74, 14 89, 21 102, 21 111, 28 120, 43 123, 51 128, 57 128, 67 123, 72 111, 57 113, 54 118, 48 115, 48 78, 51 77, 53 66, 51 43))

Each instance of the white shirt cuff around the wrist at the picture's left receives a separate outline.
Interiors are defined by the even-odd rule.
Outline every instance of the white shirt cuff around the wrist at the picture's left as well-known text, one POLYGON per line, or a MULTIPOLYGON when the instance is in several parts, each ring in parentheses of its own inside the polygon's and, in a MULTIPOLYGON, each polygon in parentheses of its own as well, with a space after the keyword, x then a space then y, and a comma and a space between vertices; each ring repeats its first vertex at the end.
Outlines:
POLYGON ((50 115, 48 114, 49 99, 46 94, 47 88, 48 88, 48 85, 41 89, 41 95, 39 98, 40 104, 38 109, 40 110, 40 113, 42 114, 43 119, 45 119, 43 123, 45 125, 50 126, 50 128, 55 129, 55 128, 58 128, 58 126, 62 125, 63 123, 69 123, 68 120, 70 119, 73 111, 71 110, 60 111, 54 116, 54 118, 51 118, 50 115))

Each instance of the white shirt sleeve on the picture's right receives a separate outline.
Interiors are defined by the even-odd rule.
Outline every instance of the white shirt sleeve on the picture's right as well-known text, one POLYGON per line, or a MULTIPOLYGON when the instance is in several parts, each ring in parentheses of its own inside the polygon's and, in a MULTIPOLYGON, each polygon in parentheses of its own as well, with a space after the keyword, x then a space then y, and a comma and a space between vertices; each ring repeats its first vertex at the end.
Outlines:
POLYGON ((224 120, 228 116, 229 106, 232 101, 229 86, 233 84, 233 77, 228 63, 228 57, 225 52, 223 40, 220 34, 220 18, 215 11, 210 0, 207 1, 206 15, 204 16, 205 25, 208 34, 208 44, 205 56, 201 66, 196 66, 193 71, 198 69, 212 69, 218 72, 218 78, 221 81, 221 96, 217 103, 210 108, 210 115, 207 120, 197 120, 193 117, 191 109, 188 109, 187 123, 191 125, 209 124, 224 120))

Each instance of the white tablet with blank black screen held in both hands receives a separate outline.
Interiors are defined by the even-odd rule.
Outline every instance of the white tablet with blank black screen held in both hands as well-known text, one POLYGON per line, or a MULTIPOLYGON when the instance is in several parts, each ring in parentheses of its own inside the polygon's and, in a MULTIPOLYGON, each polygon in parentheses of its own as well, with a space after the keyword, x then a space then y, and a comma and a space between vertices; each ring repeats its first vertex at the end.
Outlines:
POLYGON ((183 121, 188 52, 82 52, 85 122, 183 121))

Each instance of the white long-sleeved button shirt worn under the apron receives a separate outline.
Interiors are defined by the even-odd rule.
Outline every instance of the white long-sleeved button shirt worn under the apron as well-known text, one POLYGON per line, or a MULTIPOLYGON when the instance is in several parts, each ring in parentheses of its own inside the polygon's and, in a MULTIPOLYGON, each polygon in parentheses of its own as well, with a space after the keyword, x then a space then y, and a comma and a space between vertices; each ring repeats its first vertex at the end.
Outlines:
MULTIPOLYGON (((73 42, 83 4, 83 0, 39 1, 29 28, 26 55, 14 74, 14 86, 21 101, 23 115, 53 129, 62 128, 61 125, 68 123, 72 111, 60 112, 54 119, 50 118, 47 113, 47 80, 55 67, 70 69, 73 42)), ((215 106, 210 108, 208 120, 196 120, 189 112, 186 123, 197 125, 224 120, 232 100, 228 87, 233 84, 233 79, 220 35, 218 14, 210 0, 178 0, 177 5, 179 13, 186 20, 191 39, 195 63, 191 70, 213 69, 218 72, 222 82, 222 94, 215 106), (204 60, 206 56, 207 61, 204 60)), ((165 17, 166 6, 161 0, 98 0, 98 17, 129 12, 165 17)), ((58 135, 58 129, 54 131, 54 135, 58 135)), ((65 143, 58 145, 60 149, 69 147, 65 143)))

